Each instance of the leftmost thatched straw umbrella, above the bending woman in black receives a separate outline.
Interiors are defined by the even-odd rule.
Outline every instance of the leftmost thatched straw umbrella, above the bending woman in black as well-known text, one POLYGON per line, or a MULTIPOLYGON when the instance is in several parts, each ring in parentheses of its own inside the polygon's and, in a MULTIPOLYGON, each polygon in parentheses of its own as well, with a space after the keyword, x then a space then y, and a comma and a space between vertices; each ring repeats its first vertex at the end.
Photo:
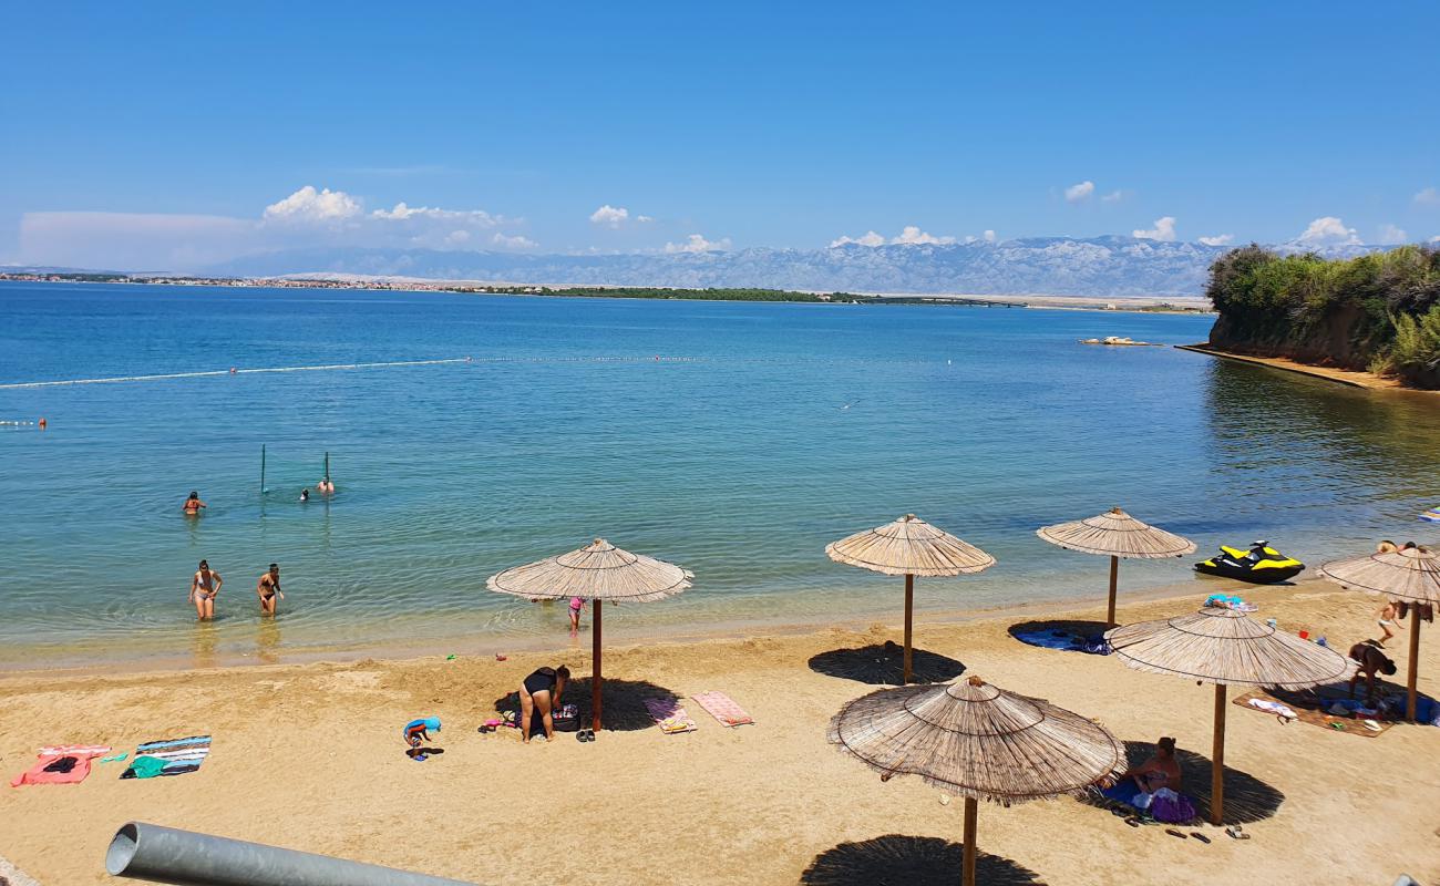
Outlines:
POLYGON ((690 586, 693 573, 655 558, 622 550, 605 539, 595 539, 579 550, 562 553, 485 579, 485 586, 500 594, 527 599, 567 599, 579 596, 595 602, 590 686, 592 728, 600 728, 600 605, 603 602, 645 604, 674 596, 690 586))

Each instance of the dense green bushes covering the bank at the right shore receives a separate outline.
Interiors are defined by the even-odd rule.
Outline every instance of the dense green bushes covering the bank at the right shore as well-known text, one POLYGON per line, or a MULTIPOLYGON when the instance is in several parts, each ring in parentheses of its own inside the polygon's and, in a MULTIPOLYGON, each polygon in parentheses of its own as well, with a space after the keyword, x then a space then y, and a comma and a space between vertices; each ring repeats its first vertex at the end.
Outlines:
POLYGON ((1440 388, 1440 249, 1326 261, 1251 243, 1215 259, 1205 294, 1220 313, 1215 347, 1440 388))

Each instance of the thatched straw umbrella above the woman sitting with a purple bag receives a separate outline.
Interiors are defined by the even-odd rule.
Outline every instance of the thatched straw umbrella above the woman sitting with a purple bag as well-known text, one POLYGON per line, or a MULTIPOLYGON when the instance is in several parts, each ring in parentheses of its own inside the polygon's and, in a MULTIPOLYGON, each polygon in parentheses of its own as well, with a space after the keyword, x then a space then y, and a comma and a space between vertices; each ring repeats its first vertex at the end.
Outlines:
POLYGON ((1332 648, 1220 607, 1112 628, 1104 638, 1115 654, 1135 670, 1215 684, 1211 824, 1221 824, 1225 802, 1221 782, 1225 765, 1225 687, 1309 689, 1348 677, 1355 670, 1355 663, 1332 648))

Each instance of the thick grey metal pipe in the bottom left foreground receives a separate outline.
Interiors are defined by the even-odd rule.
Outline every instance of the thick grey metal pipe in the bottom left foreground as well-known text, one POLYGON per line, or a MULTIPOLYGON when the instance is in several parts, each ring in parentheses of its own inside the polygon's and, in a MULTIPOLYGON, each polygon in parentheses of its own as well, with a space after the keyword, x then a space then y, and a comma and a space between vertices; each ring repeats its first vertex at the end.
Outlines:
POLYGON ((474 886, 143 821, 115 833, 105 851, 105 870, 174 886, 474 886))

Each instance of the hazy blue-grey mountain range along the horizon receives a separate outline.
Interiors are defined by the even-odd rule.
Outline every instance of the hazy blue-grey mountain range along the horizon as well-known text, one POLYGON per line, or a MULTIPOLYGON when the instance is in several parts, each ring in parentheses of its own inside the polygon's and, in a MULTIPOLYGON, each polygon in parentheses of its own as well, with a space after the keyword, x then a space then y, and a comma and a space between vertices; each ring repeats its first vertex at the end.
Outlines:
MULTIPOLYGON (((331 272, 526 284, 860 292, 1198 295, 1211 261, 1228 248, 1129 236, 625 255, 347 248, 266 252, 207 271, 233 277, 331 272)), ((1296 249, 1293 245, 1279 248, 1296 249)), ((1355 255, 1368 249, 1338 246, 1322 252, 1355 255)))

